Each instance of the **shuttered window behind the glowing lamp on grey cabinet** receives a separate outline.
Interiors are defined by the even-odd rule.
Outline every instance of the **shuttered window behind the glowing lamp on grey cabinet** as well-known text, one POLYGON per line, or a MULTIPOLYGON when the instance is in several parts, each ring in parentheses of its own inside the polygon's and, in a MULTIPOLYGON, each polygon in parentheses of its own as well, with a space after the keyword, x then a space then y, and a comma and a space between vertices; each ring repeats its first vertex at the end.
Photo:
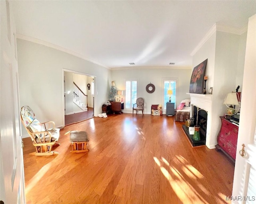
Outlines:
POLYGON ((164 90, 164 106, 163 109, 166 110, 166 102, 169 102, 170 95, 167 94, 168 90, 172 90, 171 102, 174 103, 174 108, 176 109, 177 103, 177 79, 163 79, 163 90, 164 90))

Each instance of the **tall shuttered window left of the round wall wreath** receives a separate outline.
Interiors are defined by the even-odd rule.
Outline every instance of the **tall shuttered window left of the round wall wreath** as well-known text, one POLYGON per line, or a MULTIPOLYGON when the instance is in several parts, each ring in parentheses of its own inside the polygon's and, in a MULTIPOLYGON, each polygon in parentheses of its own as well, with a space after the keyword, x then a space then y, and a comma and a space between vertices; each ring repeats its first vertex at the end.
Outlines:
POLYGON ((125 108, 130 109, 137 99, 137 80, 126 80, 125 90, 125 108))

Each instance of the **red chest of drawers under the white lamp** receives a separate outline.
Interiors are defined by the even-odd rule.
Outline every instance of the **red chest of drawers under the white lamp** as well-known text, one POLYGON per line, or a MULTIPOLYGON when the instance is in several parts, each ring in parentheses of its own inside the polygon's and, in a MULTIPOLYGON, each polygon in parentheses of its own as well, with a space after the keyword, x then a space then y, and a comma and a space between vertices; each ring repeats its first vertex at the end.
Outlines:
POLYGON ((220 116, 221 128, 217 137, 216 150, 221 150, 235 163, 236 161, 236 145, 239 127, 230 120, 220 116))

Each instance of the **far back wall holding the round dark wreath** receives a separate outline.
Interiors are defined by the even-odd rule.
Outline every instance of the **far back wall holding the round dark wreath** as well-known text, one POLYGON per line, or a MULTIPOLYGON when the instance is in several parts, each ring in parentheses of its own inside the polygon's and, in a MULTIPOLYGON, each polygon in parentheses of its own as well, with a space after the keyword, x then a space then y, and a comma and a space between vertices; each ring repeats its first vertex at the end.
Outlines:
MULTIPOLYGON (((152 104, 163 104, 162 101, 162 78, 178 78, 177 103, 189 98, 186 94, 189 92, 189 83, 191 77, 191 68, 174 69, 174 68, 126 68, 122 70, 112 70, 111 80, 114 80, 117 90, 125 90, 126 79, 137 79, 138 90, 137 96, 145 100, 145 113, 151 114, 152 104), (149 94, 146 92, 146 86, 149 83, 154 84, 156 90, 149 94)), ((109 88, 111 81, 109 82, 109 88)), ((125 95, 125 91, 123 93, 125 95)), ((124 100, 125 102, 125 100, 124 100)), ((124 110, 124 112, 131 112, 124 110)))

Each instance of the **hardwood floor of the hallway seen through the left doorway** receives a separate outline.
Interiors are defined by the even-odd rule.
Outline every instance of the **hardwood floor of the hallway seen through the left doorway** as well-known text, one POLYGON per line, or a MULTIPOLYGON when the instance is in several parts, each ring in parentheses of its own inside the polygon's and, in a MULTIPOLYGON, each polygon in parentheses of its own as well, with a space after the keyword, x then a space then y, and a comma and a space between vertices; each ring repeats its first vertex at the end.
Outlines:
POLYGON ((88 111, 65 115, 65 126, 71 125, 77 122, 88 120, 94 117, 93 108, 88 107, 88 111))

